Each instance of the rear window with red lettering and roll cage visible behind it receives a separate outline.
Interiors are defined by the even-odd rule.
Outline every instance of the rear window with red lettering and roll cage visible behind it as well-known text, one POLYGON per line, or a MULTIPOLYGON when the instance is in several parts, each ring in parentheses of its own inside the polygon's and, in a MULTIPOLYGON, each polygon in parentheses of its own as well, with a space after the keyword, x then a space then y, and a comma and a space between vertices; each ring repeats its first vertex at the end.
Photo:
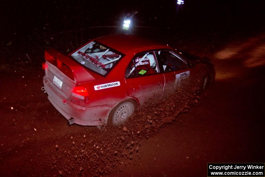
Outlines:
POLYGON ((90 70, 105 76, 123 54, 93 41, 78 49, 71 57, 90 70))

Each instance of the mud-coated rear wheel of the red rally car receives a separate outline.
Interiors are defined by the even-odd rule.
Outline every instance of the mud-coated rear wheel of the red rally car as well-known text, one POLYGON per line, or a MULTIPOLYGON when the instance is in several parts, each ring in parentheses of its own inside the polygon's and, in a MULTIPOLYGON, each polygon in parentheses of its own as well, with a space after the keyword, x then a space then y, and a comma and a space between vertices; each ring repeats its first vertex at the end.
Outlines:
POLYGON ((136 109, 132 101, 124 101, 118 104, 111 111, 108 122, 114 126, 123 125, 136 109))

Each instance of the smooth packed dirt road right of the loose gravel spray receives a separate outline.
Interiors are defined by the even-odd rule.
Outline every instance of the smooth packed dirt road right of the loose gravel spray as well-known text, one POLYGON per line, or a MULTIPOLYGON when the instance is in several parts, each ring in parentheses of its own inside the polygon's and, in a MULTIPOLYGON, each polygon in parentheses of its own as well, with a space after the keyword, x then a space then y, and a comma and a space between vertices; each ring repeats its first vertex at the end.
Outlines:
POLYGON ((114 176, 206 176, 207 163, 263 163, 264 56, 263 35, 215 52, 216 80, 200 104, 142 141, 136 165, 114 176))

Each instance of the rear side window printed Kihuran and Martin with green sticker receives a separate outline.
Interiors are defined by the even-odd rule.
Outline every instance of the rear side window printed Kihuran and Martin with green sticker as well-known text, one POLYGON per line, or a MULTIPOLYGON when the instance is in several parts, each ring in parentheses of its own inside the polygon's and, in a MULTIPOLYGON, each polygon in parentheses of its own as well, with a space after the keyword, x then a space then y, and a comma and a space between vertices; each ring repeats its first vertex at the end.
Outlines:
POLYGON ((154 52, 145 52, 135 56, 125 73, 125 77, 145 76, 158 73, 158 65, 154 52))

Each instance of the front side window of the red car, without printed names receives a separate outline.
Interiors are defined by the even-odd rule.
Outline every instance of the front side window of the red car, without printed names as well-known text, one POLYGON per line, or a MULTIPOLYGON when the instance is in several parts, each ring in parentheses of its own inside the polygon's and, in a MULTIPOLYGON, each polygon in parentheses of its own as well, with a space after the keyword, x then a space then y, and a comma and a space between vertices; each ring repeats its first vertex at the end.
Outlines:
POLYGON ((164 71, 176 71, 187 67, 187 63, 171 51, 158 51, 164 71))

